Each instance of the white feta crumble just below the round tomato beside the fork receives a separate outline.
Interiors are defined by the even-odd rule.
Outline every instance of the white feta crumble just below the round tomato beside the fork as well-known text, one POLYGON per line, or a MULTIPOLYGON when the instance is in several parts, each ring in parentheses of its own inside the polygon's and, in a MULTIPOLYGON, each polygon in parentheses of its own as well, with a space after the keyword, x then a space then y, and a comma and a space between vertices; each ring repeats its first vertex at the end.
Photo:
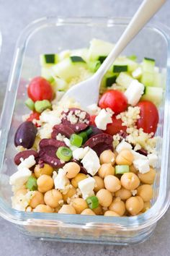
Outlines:
POLYGON ((105 130, 107 129, 107 124, 112 124, 112 114, 107 109, 102 109, 95 118, 95 124, 97 128, 105 130))

